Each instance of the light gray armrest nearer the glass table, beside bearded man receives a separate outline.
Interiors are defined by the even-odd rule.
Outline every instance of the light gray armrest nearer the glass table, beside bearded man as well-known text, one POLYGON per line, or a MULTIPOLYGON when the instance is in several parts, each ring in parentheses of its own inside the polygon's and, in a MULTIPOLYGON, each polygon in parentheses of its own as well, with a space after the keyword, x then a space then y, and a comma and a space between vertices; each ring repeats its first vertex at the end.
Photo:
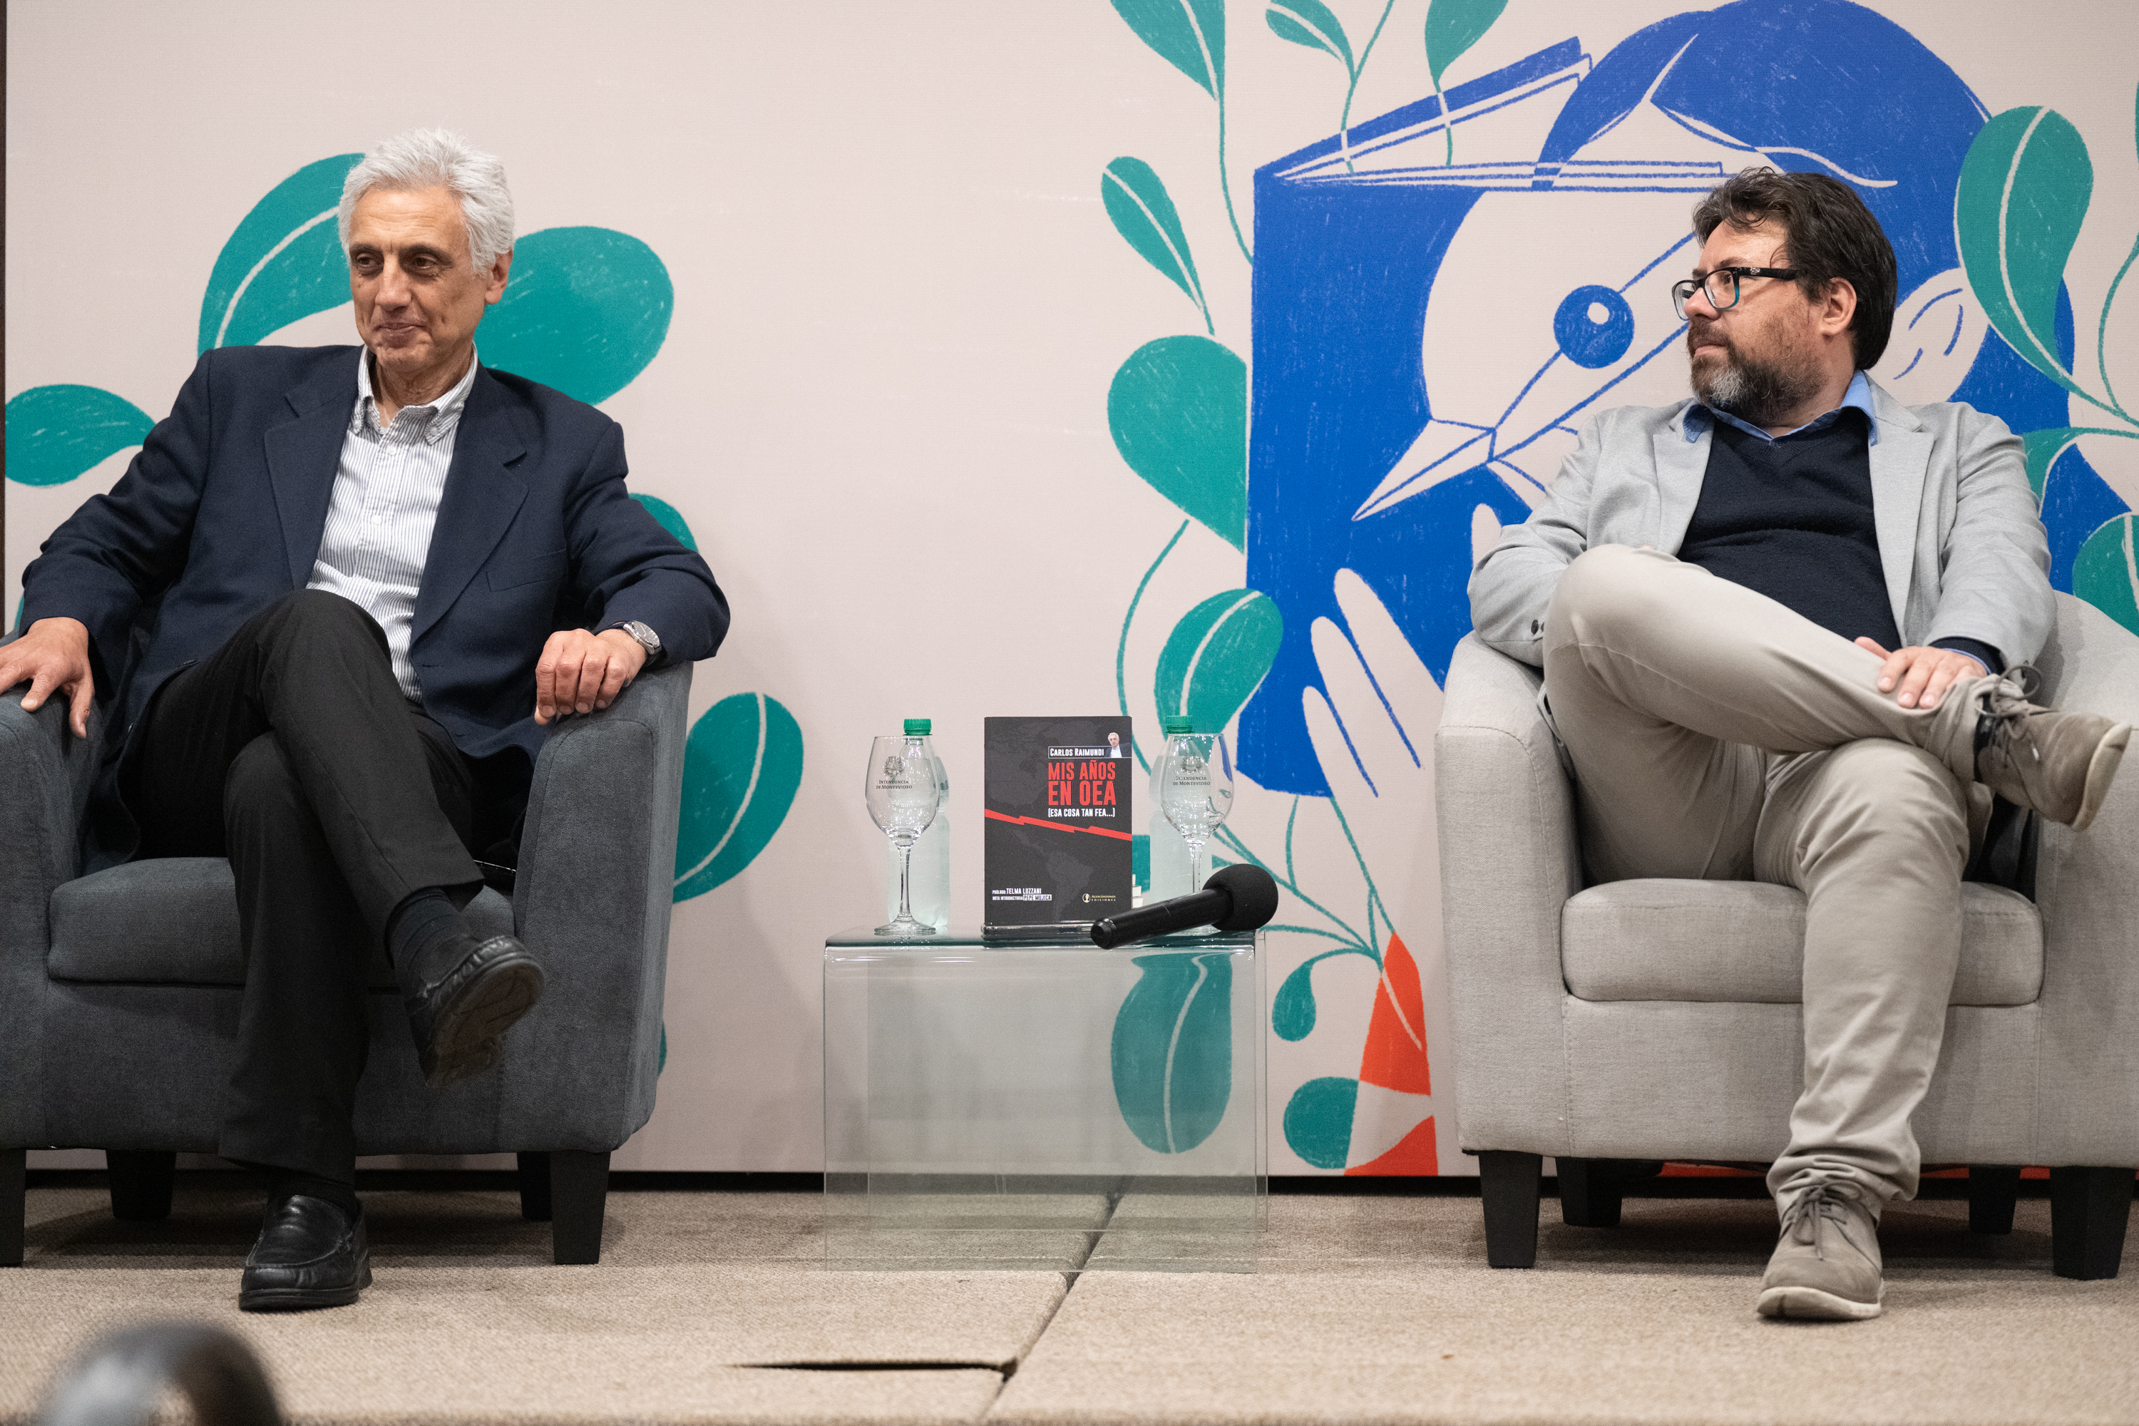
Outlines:
POLYGON ((1433 735, 1442 941, 1463 1148, 1555 1152, 1568 1125, 1559 909, 1581 889, 1574 789, 1540 676, 1467 635, 1433 735), (1491 1088, 1487 1088, 1491 1086, 1491 1088))

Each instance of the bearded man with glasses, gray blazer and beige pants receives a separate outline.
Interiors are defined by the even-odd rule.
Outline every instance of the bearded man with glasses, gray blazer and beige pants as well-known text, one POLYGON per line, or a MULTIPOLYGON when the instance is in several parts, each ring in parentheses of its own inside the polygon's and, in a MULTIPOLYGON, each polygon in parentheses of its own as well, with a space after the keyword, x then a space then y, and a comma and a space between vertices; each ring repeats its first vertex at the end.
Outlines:
POLYGON ((2021 443, 1904 406, 1895 259, 1852 188, 1748 169, 1673 289, 1692 400, 1598 415, 1472 571, 1472 620, 1544 669, 1591 881, 1805 892, 1805 1080, 1767 1174, 1758 1311, 1863 1319, 1917 1193, 1959 883, 1994 795, 2086 827, 2130 729, 2028 701, 2056 624, 2021 443))

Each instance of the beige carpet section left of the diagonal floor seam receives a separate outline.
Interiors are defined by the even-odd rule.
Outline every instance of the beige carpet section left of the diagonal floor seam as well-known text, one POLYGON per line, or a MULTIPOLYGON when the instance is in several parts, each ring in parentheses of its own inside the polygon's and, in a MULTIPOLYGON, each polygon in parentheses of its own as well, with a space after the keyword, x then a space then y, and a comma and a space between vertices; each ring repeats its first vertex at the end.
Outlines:
POLYGON ((244 1336, 295 1422, 975 1422, 1065 1291, 828 1272, 817 1195, 612 1193, 603 1261, 558 1268, 513 1195, 374 1193, 355 1306, 242 1315, 257 1214, 182 1187, 167 1223, 116 1223, 101 1191, 34 1191, 26 1264, 0 1270, 0 1422, 156 1317, 244 1336))

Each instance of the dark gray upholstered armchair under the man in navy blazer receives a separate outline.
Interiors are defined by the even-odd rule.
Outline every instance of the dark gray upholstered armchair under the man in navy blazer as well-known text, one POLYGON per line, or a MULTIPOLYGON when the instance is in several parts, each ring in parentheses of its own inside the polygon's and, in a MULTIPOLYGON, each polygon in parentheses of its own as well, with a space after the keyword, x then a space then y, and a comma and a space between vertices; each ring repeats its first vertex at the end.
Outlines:
MULTIPOLYGON (((24 1253, 24 1152, 103 1148, 122 1219, 171 1210, 173 1159, 214 1152, 244 962, 231 866, 130 862, 79 877, 98 727, 66 731, 0 697, 0 1264, 24 1253)), ((357 1152, 520 1154, 528 1219, 556 1261, 601 1255, 610 1150, 655 1107, 676 810, 691 667, 635 680, 567 720, 535 763, 511 900, 468 906, 513 930, 548 990, 501 1063, 430 1090, 394 973, 372 971, 357 1152)))

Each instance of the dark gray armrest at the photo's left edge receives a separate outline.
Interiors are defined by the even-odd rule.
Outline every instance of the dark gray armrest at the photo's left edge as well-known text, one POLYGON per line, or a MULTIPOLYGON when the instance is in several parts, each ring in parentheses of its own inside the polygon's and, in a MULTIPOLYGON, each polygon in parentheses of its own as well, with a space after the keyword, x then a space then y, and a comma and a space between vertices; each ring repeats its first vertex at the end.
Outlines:
POLYGON ((51 949, 51 894, 79 870, 81 817, 96 780, 101 710, 90 735, 66 727, 66 699, 34 714, 24 688, 0 693, 0 1005, 11 1028, 0 1035, 0 1146, 45 1142, 43 1037, 34 1033, 45 1001, 45 951, 51 949))

